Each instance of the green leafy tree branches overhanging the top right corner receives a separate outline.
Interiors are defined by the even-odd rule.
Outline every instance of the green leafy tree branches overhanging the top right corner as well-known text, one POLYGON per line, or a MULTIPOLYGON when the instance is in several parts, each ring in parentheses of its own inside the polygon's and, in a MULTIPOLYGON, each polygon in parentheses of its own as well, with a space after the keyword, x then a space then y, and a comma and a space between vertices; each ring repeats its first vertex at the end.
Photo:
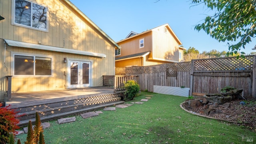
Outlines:
MULTIPOLYGON (((216 10, 196 25, 195 30, 204 30, 219 42, 227 42, 227 56, 238 54, 256 36, 256 0, 192 0, 192 4, 204 4, 216 10), (234 44, 229 43, 233 41, 234 44)), ((241 52, 240 56, 244 54, 241 52)))

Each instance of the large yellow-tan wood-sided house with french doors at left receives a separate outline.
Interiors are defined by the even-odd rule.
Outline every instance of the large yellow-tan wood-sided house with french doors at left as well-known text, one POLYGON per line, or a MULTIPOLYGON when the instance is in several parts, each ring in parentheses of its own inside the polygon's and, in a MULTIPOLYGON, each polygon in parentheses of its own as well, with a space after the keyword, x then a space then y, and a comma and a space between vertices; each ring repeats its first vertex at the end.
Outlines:
POLYGON ((120 47, 69 0, 0 0, 0 9, 0 100, 6 76, 16 93, 102 86, 115 74, 120 47))

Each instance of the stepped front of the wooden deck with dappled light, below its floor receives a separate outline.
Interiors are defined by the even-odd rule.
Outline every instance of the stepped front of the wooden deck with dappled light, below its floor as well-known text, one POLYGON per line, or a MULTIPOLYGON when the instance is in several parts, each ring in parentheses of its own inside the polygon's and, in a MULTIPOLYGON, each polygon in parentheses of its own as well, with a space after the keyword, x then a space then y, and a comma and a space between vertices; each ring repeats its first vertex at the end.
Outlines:
MULTIPOLYGON (((88 112, 106 106, 113 106, 115 104, 124 103, 121 101, 120 93, 103 94, 95 96, 74 96, 69 98, 55 98, 49 100, 43 100, 36 104, 27 102, 27 104, 14 105, 12 109, 15 109, 19 115, 19 126, 27 125, 29 120, 35 121, 36 112, 40 116, 42 122, 47 120, 53 120, 62 118, 64 116, 70 116, 83 112, 88 112)), ((33 102, 34 103, 34 102, 33 102)))

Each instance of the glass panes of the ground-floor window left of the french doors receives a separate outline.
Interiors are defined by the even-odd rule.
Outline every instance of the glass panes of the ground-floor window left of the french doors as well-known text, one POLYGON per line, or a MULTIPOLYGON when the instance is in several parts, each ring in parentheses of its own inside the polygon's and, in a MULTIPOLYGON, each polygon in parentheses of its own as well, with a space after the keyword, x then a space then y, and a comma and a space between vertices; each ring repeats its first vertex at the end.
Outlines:
POLYGON ((14 54, 14 76, 52 76, 52 58, 14 54))

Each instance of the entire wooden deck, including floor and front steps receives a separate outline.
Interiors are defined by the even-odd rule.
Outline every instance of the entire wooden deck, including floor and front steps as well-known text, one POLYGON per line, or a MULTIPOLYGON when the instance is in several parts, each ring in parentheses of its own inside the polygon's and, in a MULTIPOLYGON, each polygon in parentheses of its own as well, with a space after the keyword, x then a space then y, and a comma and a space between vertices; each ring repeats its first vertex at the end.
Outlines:
POLYGON ((38 112, 42 122, 80 114, 100 108, 122 104, 122 92, 114 93, 109 86, 87 87, 67 90, 13 93, 6 105, 22 115, 20 126, 35 122, 38 112))

